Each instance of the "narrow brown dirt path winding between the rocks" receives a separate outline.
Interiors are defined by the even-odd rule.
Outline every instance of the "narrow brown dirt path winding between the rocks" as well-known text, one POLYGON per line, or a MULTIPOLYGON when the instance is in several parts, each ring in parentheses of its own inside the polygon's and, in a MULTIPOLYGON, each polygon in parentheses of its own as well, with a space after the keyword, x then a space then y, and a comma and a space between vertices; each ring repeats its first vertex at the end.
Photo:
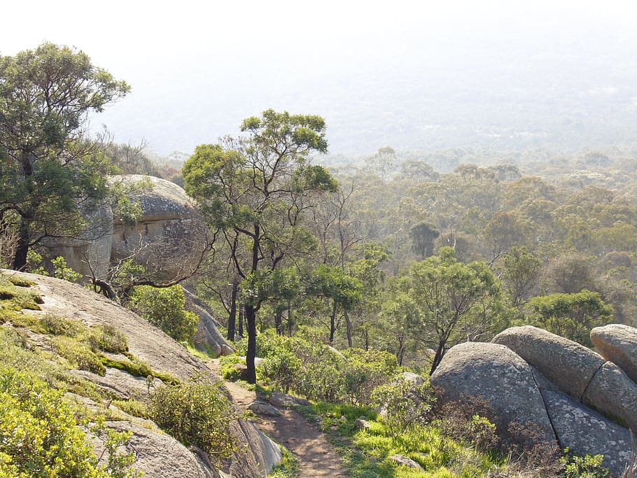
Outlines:
MULTIPOLYGON (((209 366, 215 372, 219 370, 218 360, 210 360, 209 366)), ((230 395, 242 409, 257 400, 255 392, 247 391, 234 382, 224 381, 230 395)), ((265 401, 265 399, 262 399, 265 401)), ((281 416, 258 414, 255 425, 283 444, 299 459, 300 478, 346 477, 341 458, 332 449, 325 435, 315 426, 307 423, 295 410, 281 409, 281 416)))

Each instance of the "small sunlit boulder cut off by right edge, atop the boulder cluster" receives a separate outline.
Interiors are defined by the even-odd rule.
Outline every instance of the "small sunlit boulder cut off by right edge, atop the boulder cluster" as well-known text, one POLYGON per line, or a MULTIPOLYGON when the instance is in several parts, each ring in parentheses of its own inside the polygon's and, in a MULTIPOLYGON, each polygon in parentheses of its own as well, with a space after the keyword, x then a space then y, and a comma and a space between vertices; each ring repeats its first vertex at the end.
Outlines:
POLYGON ((591 330, 591 342, 606 360, 637 382, 637 329, 612 323, 591 330))

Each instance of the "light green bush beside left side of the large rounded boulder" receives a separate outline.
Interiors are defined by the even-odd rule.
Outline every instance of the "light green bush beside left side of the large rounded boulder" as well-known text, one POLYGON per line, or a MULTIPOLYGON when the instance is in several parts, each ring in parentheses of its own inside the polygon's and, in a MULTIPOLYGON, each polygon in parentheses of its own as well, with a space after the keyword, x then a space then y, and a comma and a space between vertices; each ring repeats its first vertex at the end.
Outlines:
POLYGON ((416 384, 399 376, 390 384, 375 388, 372 402, 384 410, 382 419, 387 429, 398 437, 430 421, 435 396, 428 381, 416 384))

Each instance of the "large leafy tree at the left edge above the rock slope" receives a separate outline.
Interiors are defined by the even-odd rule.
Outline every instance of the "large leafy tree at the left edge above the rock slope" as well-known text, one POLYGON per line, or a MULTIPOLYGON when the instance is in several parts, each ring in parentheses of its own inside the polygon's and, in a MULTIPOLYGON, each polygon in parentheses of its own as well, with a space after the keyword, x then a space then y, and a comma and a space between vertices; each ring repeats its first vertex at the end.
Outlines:
POLYGON ((108 161, 84 126, 129 89, 84 52, 53 43, 0 57, 0 225, 17 231, 14 269, 44 237, 80 231, 82 209, 106 196, 108 161))

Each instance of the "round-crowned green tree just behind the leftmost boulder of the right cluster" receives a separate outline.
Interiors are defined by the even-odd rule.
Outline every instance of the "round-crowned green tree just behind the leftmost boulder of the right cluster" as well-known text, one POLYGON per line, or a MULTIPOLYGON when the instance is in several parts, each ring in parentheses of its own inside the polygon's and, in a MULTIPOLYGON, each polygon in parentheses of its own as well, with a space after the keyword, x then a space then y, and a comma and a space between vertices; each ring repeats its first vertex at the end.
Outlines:
POLYGON ((500 283, 486 262, 457 262, 454 250, 443 247, 414 262, 406 282, 423 321, 423 342, 435 350, 430 373, 451 346, 503 328, 500 283))

